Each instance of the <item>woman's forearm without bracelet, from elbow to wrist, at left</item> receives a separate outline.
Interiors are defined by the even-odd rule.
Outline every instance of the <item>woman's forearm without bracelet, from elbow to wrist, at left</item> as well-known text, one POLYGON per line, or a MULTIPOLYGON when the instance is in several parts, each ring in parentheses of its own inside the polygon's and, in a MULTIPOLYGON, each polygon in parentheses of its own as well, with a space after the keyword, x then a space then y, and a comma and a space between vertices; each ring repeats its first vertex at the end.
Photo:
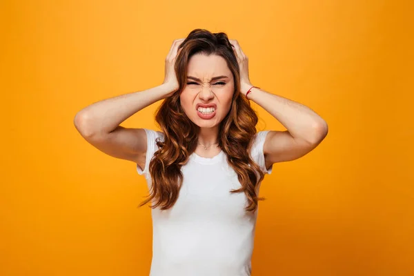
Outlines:
POLYGON ((119 95, 104 99, 80 110, 75 116, 75 126, 83 135, 106 134, 115 130, 119 124, 141 109, 164 99, 174 91, 170 86, 161 84, 148 90, 119 95))

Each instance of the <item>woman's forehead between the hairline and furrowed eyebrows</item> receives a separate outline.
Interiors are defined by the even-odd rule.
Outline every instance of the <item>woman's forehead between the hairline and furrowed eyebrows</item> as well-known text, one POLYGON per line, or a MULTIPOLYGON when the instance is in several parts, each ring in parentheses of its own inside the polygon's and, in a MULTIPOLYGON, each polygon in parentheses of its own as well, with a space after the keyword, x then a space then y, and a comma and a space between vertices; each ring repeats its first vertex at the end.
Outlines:
POLYGON ((195 54, 188 61, 188 75, 211 78, 218 75, 231 76, 226 60, 218 55, 195 54))

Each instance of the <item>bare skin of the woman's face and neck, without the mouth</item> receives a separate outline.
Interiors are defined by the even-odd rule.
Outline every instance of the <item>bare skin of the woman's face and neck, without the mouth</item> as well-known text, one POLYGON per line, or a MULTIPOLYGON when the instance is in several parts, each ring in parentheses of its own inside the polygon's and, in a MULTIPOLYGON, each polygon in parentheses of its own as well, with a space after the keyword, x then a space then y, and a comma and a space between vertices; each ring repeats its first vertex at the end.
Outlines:
MULTIPOLYGON (((215 144, 219 133, 219 124, 226 117, 230 110, 235 84, 233 73, 227 66, 226 60, 218 55, 193 55, 188 61, 187 76, 196 77, 200 81, 188 79, 186 87, 181 92, 181 107, 193 121, 200 127, 200 144, 210 146, 215 144), (216 79, 213 77, 226 76, 226 78, 216 79), (216 115, 212 119, 201 119, 197 115, 197 103, 215 103, 217 105, 216 115)), ((217 144, 204 149, 197 146, 195 152, 204 157, 213 157, 220 152, 217 144)))

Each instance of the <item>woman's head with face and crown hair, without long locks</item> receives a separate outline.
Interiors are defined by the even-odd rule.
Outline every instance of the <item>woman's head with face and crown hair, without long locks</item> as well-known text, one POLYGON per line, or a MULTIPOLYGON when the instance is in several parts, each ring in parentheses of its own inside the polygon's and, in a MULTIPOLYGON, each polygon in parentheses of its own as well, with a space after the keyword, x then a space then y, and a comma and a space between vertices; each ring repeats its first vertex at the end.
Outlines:
POLYGON ((227 35, 196 29, 179 49, 175 72, 182 110, 201 128, 219 125, 239 96, 239 66, 227 35), (220 76, 225 77, 213 79, 220 76), (215 106, 215 110, 203 116, 197 110, 199 104, 215 106), (214 117, 205 119, 211 116, 214 117))

